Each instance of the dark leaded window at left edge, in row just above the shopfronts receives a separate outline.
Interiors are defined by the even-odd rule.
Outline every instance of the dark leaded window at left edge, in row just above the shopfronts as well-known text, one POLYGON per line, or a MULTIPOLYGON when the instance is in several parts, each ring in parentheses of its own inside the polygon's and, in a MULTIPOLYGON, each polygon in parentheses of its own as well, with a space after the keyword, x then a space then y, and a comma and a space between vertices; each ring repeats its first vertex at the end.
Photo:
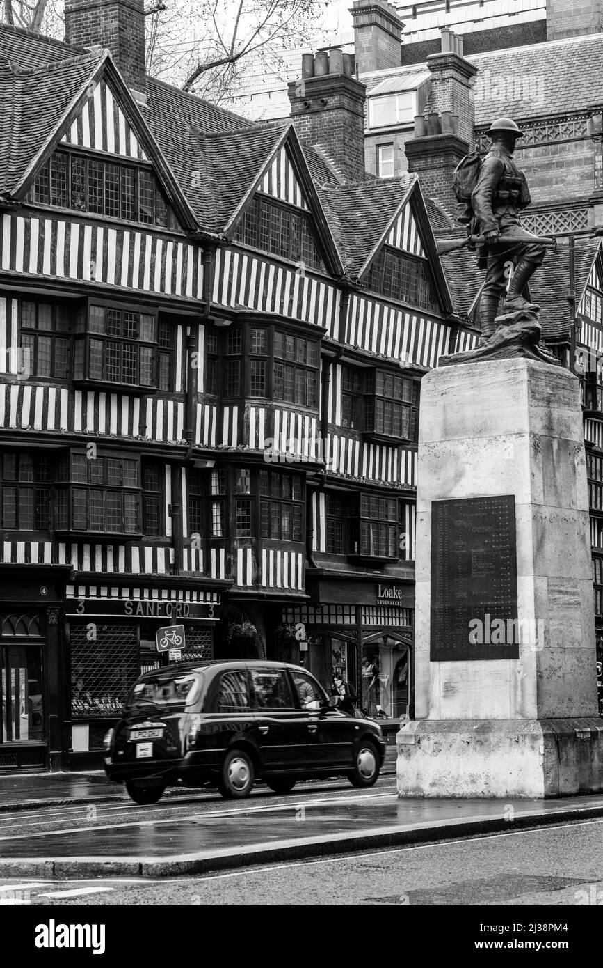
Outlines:
POLYGON ((53 467, 47 456, 20 451, 2 454, 2 527, 47 530, 53 467))

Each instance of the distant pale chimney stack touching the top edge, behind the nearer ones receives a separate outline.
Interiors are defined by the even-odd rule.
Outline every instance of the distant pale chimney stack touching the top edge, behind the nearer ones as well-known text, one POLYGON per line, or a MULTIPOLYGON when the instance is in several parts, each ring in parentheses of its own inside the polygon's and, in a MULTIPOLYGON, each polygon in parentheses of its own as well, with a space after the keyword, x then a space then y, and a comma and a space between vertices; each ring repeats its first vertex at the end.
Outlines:
POLYGON ((359 74, 400 67, 404 23, 387 0, 354 0, 354 46, 359 74))

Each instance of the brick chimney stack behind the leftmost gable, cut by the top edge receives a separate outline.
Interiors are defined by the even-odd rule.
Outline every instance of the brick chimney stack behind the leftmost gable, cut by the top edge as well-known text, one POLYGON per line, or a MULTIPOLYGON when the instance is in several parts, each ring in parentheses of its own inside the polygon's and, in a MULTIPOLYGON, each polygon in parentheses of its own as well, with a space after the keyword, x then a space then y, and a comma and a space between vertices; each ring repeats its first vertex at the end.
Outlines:
POLYGON ((144 93, 143 0, 66 0, 65 40, 79 47, 108 47, 128 86, 144 93))

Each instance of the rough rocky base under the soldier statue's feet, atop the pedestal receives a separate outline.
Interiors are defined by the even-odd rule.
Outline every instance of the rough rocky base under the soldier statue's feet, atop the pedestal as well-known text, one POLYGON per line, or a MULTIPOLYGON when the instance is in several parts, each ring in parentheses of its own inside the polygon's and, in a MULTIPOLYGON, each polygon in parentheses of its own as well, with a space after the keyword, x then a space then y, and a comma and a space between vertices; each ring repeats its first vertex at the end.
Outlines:
POLYGON ((480 360, 530 359, 541 363, 560 366, 557 359, 547 349, 541 347, 541 326, 536 308, 516 310, 505 313, 495 320, 497 329, 483 345, 464 353, 451 353, 440 357, 440 366, 457 363, 477 363, 480 360))

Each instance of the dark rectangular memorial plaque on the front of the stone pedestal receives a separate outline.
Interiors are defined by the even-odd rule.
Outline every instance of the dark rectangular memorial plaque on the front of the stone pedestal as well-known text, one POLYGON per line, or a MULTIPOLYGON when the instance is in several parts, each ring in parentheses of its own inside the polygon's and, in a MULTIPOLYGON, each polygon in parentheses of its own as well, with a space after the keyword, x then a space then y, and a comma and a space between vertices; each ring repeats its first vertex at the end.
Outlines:
POLYGON ((432 662, 519 658, 515 498, 435 500, 432 662))

